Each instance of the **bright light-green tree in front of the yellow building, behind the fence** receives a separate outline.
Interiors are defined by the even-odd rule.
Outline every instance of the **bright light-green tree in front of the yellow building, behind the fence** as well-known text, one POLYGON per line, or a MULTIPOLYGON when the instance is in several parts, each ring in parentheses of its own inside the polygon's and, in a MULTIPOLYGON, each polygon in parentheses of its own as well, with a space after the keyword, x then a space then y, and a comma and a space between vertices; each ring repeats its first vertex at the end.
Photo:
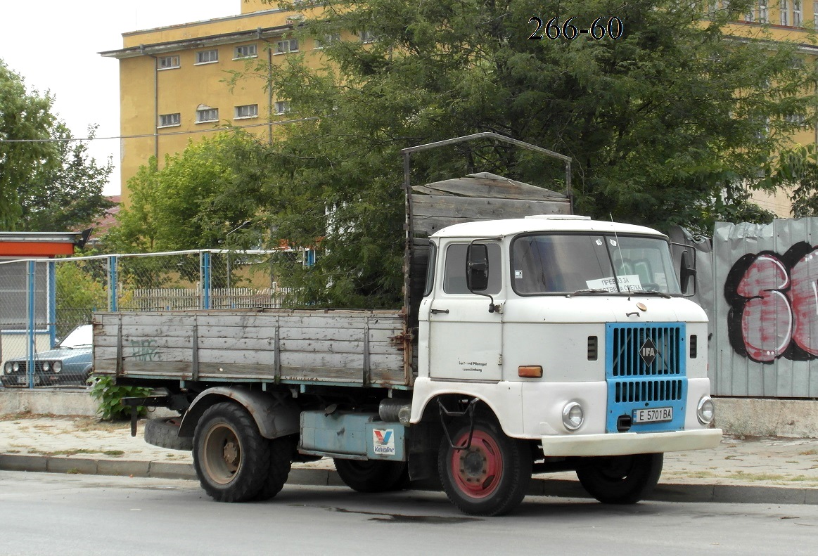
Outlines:
MULTIPOLYGON (((266 149, 240 130, 205 137, 178 155, 156 159, 128 181, 130 203, 107 240, 121 252, 218 249, 227 232, 252 221, 261 205, 266 149)), ((258 226, 243 226, 231 246, 258 241, 258 226)))

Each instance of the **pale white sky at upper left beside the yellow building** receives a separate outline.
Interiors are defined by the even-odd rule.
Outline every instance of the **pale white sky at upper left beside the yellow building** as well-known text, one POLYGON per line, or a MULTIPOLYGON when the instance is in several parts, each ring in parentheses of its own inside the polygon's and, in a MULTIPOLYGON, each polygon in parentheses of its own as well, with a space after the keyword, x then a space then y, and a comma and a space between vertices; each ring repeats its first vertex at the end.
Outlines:
MULTIPOLYGON (((119 61, 98 52, 122 48, 122 34, 241 11, 241 0, 0 0, 0 59, 29 92, 51 92, 54 112, 74 137, 119 136, 119 61)), ((91 141, 89 153, 115 164, 106 195, 119 195, 119 139, 91 141)))

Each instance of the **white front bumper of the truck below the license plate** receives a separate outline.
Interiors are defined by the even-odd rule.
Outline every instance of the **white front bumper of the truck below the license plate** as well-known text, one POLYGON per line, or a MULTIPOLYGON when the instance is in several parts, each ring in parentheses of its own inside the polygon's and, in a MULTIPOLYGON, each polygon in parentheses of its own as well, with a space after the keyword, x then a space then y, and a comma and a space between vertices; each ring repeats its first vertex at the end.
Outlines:
POLYGON ((659 454, 671 451, 715 448, 721 428, 702 428, 668 433, 607 433, 542 437, 546 456, 595 456, 659 454))

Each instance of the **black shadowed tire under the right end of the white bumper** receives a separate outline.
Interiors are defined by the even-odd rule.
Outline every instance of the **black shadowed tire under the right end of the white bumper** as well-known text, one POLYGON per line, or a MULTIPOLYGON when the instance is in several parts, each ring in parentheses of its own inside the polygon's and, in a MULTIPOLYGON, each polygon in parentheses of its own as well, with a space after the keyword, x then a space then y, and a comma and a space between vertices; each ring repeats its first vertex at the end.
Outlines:
POLYGON ((656 486, 663 459, 663 454, 590 458, 577 469, 577 478, 603 504, 636 504, 656 486))

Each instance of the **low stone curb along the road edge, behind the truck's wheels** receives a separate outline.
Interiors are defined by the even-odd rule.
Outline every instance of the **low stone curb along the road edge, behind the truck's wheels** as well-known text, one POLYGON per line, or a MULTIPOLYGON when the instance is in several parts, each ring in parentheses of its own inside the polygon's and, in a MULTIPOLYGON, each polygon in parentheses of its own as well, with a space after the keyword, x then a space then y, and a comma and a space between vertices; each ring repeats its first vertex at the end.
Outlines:
MULTIPOLYGON (((89 458, 0 454, 0 470, 197 480, 196 470, 193 469, 192 464, 167 461, 92 460, 89 458)), ((287 483, 317 487, 345 486, 338 477, 338 473, 330 469, 292 469, 287 483)), ((416 488, 418 490, 440 490, 429 485, 416 488)), ((577 481, 548 478, 533 478, 528 494, 561 498, 590 498, 577 481)), ((646 500, 818 505, 818 490, 800 487, 659 483, 646 500)))

